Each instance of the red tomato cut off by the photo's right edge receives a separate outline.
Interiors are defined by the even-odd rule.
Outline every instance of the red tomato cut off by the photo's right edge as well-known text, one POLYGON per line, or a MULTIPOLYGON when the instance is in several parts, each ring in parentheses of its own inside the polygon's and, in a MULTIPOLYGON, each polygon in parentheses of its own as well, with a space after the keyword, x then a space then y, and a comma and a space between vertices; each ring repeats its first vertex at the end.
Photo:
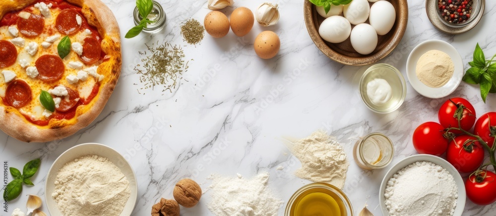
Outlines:
POLYGON ((490 112, 479 117, 475 123, 474 133, 492 147, 496 135, 496 113, 490 112))

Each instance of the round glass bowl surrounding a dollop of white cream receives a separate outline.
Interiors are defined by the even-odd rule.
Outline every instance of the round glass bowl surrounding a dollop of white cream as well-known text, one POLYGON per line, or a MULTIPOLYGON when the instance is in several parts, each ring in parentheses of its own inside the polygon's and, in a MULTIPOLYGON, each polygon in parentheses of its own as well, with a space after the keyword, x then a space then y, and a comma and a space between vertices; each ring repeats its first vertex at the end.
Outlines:
POLYGON ((406 97, 406 83, 403 75, 390 64, 374 64, 369 67, 360 78, 359 83, 360 97, 365 105, 372 111, 380 114, 390 113, 397 110, 406 97), (372 100, 367 95, 367 84, 373 79, 384 79, 391 86, 391 99, 381 105, 372 103, 372 100))

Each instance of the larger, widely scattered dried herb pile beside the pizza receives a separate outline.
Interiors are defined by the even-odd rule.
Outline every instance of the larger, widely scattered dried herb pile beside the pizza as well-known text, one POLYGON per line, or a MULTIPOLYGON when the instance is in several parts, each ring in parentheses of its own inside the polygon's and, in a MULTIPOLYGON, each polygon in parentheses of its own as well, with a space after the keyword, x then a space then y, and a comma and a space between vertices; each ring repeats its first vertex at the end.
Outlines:
POLYGON ((139 81, 144 85, 138 89, 138 93, 141 93, 139 90, 155 87, 172 92, 188 69, 189 61, 185 63, 183 48, 181 45, 173 46, 167 42, 145 45, 148 50, 139 52, 142 56, 141 64, 134 67, 134 71, 140 75, 139 81))

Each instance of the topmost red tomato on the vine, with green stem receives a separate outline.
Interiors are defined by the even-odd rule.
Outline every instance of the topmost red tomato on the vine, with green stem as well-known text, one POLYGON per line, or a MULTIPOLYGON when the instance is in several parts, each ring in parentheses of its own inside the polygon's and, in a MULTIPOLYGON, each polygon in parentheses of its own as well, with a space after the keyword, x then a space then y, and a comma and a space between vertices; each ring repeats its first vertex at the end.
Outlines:
MULTIPOLYGON (((461 97, 454 97, 444 102, 439 108, 437 118, 444 128, 459 128, 458 119, 455 117, 455 114, 457 115, 458 113, 462 115, 460 120, 461 129, 470 130, 475 123, 475 109, 468 100, 461 97), (463 106, 463 109, 458 109, 460 106, 463 106)), ((450 132, 462 133, 459 130, 450 130, 450 132)))

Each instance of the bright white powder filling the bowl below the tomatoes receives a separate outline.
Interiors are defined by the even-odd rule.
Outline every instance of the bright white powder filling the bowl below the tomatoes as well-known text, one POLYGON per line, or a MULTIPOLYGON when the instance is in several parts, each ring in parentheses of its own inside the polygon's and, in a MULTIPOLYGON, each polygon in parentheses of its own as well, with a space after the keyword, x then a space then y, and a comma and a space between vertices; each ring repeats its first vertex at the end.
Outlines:
POLYGON ((415 162, 387 181, 389 216, 452 216, 458 198, 453 175, 431 162, 415 162))

